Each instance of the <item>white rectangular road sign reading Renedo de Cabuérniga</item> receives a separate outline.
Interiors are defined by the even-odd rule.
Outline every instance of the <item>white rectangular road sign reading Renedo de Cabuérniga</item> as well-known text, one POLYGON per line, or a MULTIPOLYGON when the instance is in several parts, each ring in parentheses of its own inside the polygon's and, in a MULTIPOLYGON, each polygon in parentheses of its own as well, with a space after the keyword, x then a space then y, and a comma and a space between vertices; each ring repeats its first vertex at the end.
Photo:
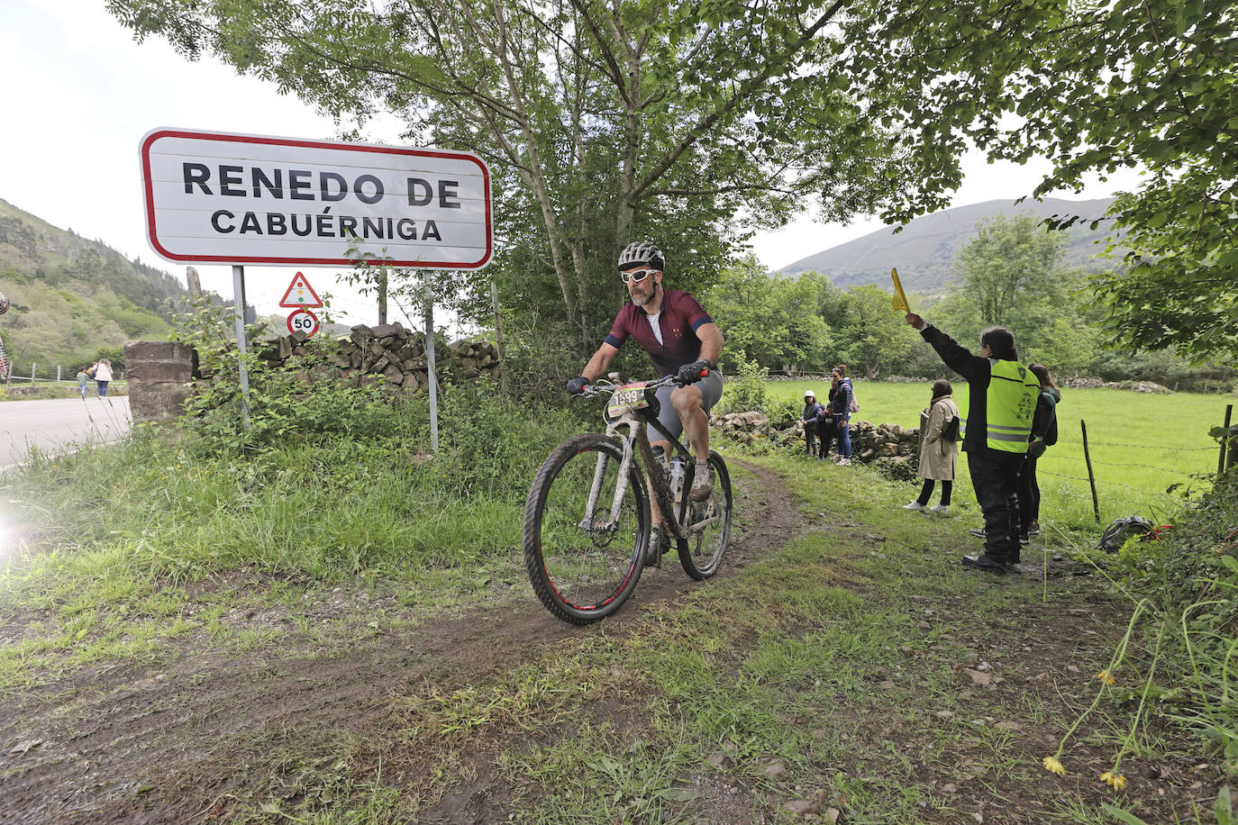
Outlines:
POLYGON ((141 163, 170 261, 475 270, 493 251, 490 171, 467 152, 156 129, 141 163))

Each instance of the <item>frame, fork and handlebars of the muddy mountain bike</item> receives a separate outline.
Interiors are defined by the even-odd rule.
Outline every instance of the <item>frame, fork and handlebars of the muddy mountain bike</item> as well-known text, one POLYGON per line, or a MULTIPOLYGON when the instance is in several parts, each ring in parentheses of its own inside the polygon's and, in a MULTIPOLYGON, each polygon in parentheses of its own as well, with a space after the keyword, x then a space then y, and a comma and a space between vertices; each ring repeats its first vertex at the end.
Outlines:
MULTIPOLYGON (((654 487, 654 495, 657 498, 657 508, 662 513, 662 526, 670 528, 670 534, 677 539, 688 539, 695 534, 703 532, 709 524, 716 523, 722 518, 722 513, 713 510, 706 515, 698 522, 691 524, 681 524, 678 517, 675 515, 675 508, 681 503, 671 496, 670 482, 666 477, 666 472, 662 470, 661 463, 654 456, 654 448, 649 442, 646 424, 652 427, 662 435, 671 447, 675 454, 680 455, 685 461, 692 461, 693 455, 688 448, 686 448, 680 439, 671 435, 670 432, 657 421, 657 416, 652 412, 649 398, 652 396, 652 391, 664 387, 669 383, 676 383, 678 386, 685 386, 675 376, 666 376, 657 378, 656 381, 643 382, 638 385, 621 383, 619 376, 612 374, 610 380, 599 378, 587 386, 584 392, 581 393, 587 397, 593 397, 602 395, 603 392, 612 393, 612 404, 614 403, 614 396, 619 392, 640 393, 640 401, 635 397, 628 402, 630 407, 626 412, 620 413, 617 418, 607 417, 607 437, 613 438, 619 442, 623 448, 623 458, 619 461, 618 481, 615 484, 615 492, 613 501, 610 502, 610 516, 607 521, 599 522, 597 517, 599 498, 602 497, 602 486, 605 477, 607 463, 610 459, 605 455, 598 455, 598 466, 593 472, 593 486, 589 489, 589 497, 586 503, 584 516, 579 522, 579 527, 587 532, 609 532, 615 529, 619 524, 619 518, 623 511, 624 495, 628 492, 628 471, 635 460, 635 450, 640 450, 640 465, 644 465, 644 471, 640 465, 636 468, 636 474, 639 476, 649 479, 651 486, 654 487), (643 402, 643 404, 641 404, 643 402), (640 404, 640 406, 638 406, 640 404), (628 435, 620 435, 620 430, 626 427, 628 435), (635 449, 634 449, 635 445, 635 449)), ((609 407, 608 407, 609 411, 609 407)), ((666 456, 667 463, 670 456, 666 456)), ((687 485, 685 485, 686 487, 687 485)), ((686 489, 680 491, 680 495, 687 495, 686 489)), ((649 531, 645 534, 645 562, 650 560, 651 554, 656 554, 659 548, 651 548, 649 542, 649 531)), ((660 562, 659 558, 652 559, 655 563, 660 562)))

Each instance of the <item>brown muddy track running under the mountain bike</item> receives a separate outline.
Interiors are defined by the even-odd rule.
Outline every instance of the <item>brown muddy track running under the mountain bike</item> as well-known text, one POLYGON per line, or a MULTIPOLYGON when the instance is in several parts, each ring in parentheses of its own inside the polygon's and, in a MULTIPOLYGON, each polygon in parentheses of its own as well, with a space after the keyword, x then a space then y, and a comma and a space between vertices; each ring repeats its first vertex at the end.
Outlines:
MULTIPOLYGON (((810 527, 774 472, 744 466, 749 474, 733 480, 740 523, 719 576, 810 527)), ((376 729, 396 693, 483 679, 560 639, 630 627, 644 606, 701 586, 671 555, 600 626, 561 622, 530 596, 329 657, 186 651, 165 670, 123 664, 74 674, 0 703, 0 823, 201 821, 212 801, 251 790, 253 769, 265 773, 280 752, 376 729)))

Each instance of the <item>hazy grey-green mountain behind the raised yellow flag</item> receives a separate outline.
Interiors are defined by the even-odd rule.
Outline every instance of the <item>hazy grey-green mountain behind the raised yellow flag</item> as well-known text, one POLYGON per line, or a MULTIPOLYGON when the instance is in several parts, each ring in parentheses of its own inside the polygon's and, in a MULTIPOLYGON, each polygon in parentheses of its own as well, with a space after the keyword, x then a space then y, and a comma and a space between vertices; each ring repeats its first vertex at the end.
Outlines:
POLYGON ((976 223, 982 218, 1003 214, 1008 218, 1030 213, 1037 218, 1055 214, 1082 215, 1086 220, 1066 233, 1062 260, 1070 266, 1087 270, 1106 270, 1112 262, 1093 260, 1103 250, 1107 226, 1103 221, 1096 231, 1088 223, 1099 219, 1112 198, 1098 200, 1065 200, 1046 198, 1042 202, 987 200, 968 207, 946 209, 916 218, 901 233, 894 228, 881 229, 846 244, 810 255, 779 270, 781 275, 799 275, 816 271, 838 287, 860 283, 885 286, 890 280, 890 267, 898 267, 899 278, 907 289, 921 294, 940 294, 956 276, 954 259, 967 241, 976 237, 976 223))

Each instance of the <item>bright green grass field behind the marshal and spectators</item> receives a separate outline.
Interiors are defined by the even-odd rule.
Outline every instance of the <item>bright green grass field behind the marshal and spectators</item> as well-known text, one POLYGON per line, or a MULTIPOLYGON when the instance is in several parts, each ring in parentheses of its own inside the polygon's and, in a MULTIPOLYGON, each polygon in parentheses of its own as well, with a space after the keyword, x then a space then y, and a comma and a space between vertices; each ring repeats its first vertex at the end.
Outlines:
MULTIPOLYGON (((917 427, 920 411, 928 406, 930 386, 928 381, 855 381, 860 411, 852 421, 917 427)), ((770 381, 766 385, 771 400, 799 400, 805 390, 823 397, 829 382, 770 381)), ((966 416, 967 385, 962 381, 954 382, 954 401, 966 416)), ((1162 521, 1181 503, 1184 490, 1211 484, 1208 479, 1196 477, 1217 470, 1217 443, 1208 437, 1208 429, 1224 421, 1226 404, 1236 401, 1234 396, 1191 392, 1155 396, 1106 387, 1065 390, 1057 407, 1058 442, 1039 461, 1036 471, 1042 516, 1062 526, 1096 523, 1083 459, 1082 421, 1087 423, 1101 521, 1108 523, 1132 515, 1162 521), (1166 494, 1172 485, 1182 486, 1166 494)), ((956 498, 974 502, 966 461, 964 455, 959 461, 963 482, 956 486, 956 498)))

